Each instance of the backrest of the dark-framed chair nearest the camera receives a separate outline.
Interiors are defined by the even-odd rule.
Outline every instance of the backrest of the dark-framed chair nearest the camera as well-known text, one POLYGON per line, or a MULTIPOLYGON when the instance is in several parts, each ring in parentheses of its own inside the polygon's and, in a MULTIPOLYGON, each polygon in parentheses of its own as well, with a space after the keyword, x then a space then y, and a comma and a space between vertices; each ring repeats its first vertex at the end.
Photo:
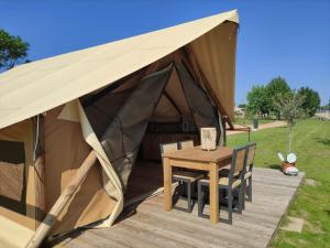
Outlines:
POLYGON ((235 175, 241 179, 246 170, 248 147, 240 147, 233 150, 229 181, 231 182, 235 175))

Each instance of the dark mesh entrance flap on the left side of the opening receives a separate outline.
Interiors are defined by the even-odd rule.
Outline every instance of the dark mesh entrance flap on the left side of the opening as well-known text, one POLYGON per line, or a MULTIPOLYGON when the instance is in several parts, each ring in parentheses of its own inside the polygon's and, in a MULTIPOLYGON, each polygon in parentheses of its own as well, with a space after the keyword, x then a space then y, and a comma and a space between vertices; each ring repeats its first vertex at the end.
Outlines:
MULTIPOLYGON (((173 64, 144 77, 139 85, 127 94, 124 99, 121 98, 122 106, 110 117, 110 123, 103 130, 97 131, 98 134, 101 134, 99 137, 100 142, 112 166, 120 175, 123 188, 125 188, 138 157, 148 120, 158 104, 172 71, 173 64)), ((111 106, 111 97, 108 99, 103 103, 103 106, 98 106, 98 101, 89 105, 85 109, 87 116, 95 117, 95 112, 100 112, 100 107, 102 107, 103 115, 98 114, 98 116, 107 121, 107 118, 109 118, 107 106, 111 106)))

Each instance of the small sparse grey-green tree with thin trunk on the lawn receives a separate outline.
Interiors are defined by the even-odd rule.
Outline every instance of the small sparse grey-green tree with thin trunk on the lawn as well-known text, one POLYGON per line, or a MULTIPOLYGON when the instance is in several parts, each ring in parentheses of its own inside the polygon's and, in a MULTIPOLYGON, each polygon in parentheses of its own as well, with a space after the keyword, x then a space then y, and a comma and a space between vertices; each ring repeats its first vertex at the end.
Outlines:
POLYGON ((305 116, 304 109, 301 108, 302 103, 304 96, 296 91, 278 94, 274 99, 274 105, 288 126, 288 153, 292 152, 296 122, 305 116))

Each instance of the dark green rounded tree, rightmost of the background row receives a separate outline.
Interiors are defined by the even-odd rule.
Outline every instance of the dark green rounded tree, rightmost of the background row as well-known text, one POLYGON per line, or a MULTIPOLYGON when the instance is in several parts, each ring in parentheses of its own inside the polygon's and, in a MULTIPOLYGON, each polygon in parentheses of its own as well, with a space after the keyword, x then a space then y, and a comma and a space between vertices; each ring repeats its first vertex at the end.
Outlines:
POLYGON ((302 109, 308 116, 314 116, 316 111, 320 108, 321 99, 317 91, 309 87, 301 87, 298 90, 298 95, 304 96, 302 109))

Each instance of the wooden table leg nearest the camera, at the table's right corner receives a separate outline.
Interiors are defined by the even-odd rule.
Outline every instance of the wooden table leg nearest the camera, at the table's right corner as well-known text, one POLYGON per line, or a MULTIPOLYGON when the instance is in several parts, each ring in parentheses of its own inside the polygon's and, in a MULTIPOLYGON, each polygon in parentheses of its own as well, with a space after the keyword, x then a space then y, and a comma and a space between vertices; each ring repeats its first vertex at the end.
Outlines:
POLYGON ((212 224, 219 222, 219 165, 210 164, 210 220, 212 224))

